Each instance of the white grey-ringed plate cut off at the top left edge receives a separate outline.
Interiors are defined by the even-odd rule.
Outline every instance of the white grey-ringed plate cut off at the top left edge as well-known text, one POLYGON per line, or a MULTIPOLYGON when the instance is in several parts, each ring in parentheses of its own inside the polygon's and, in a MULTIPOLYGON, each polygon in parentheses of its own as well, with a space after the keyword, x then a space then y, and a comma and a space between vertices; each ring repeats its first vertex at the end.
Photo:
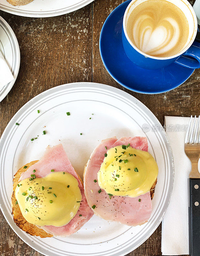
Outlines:
POLYGON ((53 17, 76 11, 94 0, 34 0, 33 2, 13 6, 6 0, 0 0, 0 10, 25 17, 53 17))

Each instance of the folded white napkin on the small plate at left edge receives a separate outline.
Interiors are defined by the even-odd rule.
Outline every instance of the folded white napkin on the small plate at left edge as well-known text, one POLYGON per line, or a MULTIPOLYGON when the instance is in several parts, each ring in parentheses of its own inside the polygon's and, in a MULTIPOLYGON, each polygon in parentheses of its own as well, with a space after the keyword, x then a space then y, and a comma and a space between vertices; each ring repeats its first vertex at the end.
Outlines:
POLYGON ((0 90, 14 79, 4 56, 0 51, 0 90))

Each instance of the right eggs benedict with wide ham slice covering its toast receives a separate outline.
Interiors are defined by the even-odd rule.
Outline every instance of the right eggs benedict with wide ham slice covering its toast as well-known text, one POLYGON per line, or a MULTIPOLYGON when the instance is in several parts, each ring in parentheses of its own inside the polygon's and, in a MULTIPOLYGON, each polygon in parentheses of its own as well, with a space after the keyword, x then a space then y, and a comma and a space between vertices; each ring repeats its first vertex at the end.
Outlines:
POLYGON ((150 218, 158 166, 146 137, 102 140, 84 170, 84 191, 93 212, 129 226, 150 218))

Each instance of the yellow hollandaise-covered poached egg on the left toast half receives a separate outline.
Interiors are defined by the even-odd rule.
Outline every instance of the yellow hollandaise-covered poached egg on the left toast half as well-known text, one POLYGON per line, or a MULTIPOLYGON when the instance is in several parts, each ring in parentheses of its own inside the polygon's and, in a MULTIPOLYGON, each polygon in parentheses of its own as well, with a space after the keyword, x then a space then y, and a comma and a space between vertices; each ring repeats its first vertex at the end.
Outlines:
POLYGON ((56 227, 69 223, 82 200, 78 181, 68 172, 22 180, 15 189, 15 197, 29 223, 56 227))

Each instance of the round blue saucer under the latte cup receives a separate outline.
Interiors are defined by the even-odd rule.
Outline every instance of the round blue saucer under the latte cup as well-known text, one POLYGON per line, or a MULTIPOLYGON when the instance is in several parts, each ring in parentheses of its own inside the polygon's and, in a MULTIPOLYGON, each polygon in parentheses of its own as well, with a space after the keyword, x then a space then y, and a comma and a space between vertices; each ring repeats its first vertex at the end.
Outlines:
MULTIPOLYGON (((130 2, 127 0, 120 4, 103 24, 100 34, 103 64, 110 76, 129 90, 147 94, 168 92, 184 83, 195 69, 175 63, 161 69, 144 69, 129 60, 122 45, 122 23, 130 2)), ((194 45, 200 46, 196 42, 194 45)))

